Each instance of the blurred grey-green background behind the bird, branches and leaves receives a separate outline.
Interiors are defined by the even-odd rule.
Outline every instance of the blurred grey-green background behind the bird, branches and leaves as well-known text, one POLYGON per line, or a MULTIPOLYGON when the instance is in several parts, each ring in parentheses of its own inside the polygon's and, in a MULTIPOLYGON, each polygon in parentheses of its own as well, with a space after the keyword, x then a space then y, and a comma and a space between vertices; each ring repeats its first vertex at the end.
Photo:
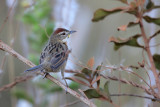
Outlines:
MULTIPOLYGON (((160 4, 158 0, 154 0, 154 2, 157 5, 160 4)), ((143 60, 142 49, 124 46, 118 51, 114 51, 113 43, 108 42, 111 36, 127 38, 140 33, 139 26, 129 28, 126 31, 117 30, 119 26, 135 21, 135 17, 117 13, 99 22, 91 21, 95 10, 99 8, 112 9, 118 6, 124 6, 124 4, 116 0, 1 0, 0 40, 38 65, 41 50, 45 46, 48 36, 54 29, 64 27, 77 31, 67 40, 72 53, 69 56, 66 69, 81 70, 91 57, 95 59, 95 67, 102 62, 104 65, 138 66, 138 62, 143 60)), ((153 17, 160 17, 159 13, 158 10, 155 10, 149 14, 153 17)), ((152 35, 158 29, 159 27, 154 24, 145 23, 147 35, 152 35)), ((152 43, 156 44, 158 38, 153 39, 152 43)), ((143 44, 141 39, 139 42, 143 44)), ((152 53, 158 52, 159 46, 152 48, 152 53)), ((0 86, 11 83, 17 76, 23 76, 23 72, 27 68, 29 66, 0 51, 0 86)), ((148 80, 144 70, 138 69, 135 72, 148 80)), ((126 72, 108 71, 104 74, 144 84, 136 76, 126 72)), ((62 80, 60 73, 52 75, 62 80)), ((65 76, 71 75, 65 73, 65 76)), ((36 76, 32 80, 22 82, 10 90, 1 92, 0 106, 64 107, 78 100, 70 94, 66 94, 57 85, 42 78, 42 76, 36 76)), ((153 79, 152 76, 151 79, 153 79)), ((72 89, 86 89, 78 83, 67 82, 72 89)), ((154 83, 152 84, 154 85, 154 83)), ((145 95, 143 91, 120 82, 110 81, 109 89, 110 93, 113 94, 134 93, 145 95)), ((112 99, 120 107, 158 107, 157 103, 141 98, 113 97, 112 99)), ((98 107, 112 107, 106 101, 93 100, 93 102, 98 107)), ((69 107, 87 106, 79 102, 69 107)))

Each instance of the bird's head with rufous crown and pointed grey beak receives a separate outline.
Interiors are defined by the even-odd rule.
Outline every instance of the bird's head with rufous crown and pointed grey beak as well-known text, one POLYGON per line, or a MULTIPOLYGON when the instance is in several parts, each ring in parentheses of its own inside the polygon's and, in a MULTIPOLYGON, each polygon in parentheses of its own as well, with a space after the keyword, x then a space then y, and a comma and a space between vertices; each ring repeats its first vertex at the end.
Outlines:
POLYGON ((70 34, 74 33, 76 31, 69 31, 67 29, 64 28, 57 28, 54 33, 52 34, 51 38, 57 39, 62 41, 63 39, 65 39, 66 37, 69 37, 70 34))

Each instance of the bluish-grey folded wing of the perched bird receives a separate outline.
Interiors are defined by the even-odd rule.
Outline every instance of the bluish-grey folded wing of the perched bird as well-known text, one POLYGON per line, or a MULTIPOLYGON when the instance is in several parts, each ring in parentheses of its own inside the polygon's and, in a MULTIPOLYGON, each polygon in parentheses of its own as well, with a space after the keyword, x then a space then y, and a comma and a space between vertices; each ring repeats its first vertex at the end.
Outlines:
POLYGON ((61 52, 54 57, 52 57, 50 63, 52 70, 57 70, 60 66, 64 64, 64 62, 67 61, 68 55, 66 55, 65 52, 61 52))

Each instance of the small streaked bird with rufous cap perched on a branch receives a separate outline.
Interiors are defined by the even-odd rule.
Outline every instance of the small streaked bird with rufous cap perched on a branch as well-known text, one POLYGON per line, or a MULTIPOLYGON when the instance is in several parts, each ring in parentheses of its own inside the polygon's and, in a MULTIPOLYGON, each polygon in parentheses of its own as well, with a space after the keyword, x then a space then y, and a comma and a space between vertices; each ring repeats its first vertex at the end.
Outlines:
POLYGON ((24 72, 44 73, 44 78, 49 72, 61 71, 62 78, 66 86, 68 84, 64 78, 64 69, 71 50, 68 49, 67 43, 63 40, 70 37, 70 34, 75 33, 74 30, 67 30, 65 28, 57 28, 50 36, 47 45, 44 47, 40 55, 39 65, 29 68, 24 72))

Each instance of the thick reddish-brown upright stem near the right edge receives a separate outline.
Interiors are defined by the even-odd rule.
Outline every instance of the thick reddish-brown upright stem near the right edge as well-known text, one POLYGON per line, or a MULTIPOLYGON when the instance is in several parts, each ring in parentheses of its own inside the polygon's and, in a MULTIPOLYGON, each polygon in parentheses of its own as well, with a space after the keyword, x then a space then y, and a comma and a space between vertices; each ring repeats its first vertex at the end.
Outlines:
POLYGON ((145 49, 146 49, 146 52, 147 52, 147 55, 148 55, 148 58, 149 58, 149 62, 151 64, 151 71, 155 77, 155 82, 156 82, 156 85, 157 85, 157 88, 158 88, 158 98, 160 98, 160 80, 159 80, 159 77, 158 77, 158 73, 156 72, 156 68, 155 68, 155 64, 154 64, 154 61, 153 61, 153 57, 152 57, 152 54, 151 54, 151 50, 150 50, 150 47, 149 47, 149 39, 147 38, 146 36, 146 33, 144 31, 144 26, 143 26, 143 22, 142 22, 142 18, 143 16, 141 15, 142 13, 139 13, 139 18, 140 18, 140 21, 139 21, 139 25, 140 25, 140 29, 141 29, 141 33, 142 33, 142 38, 143 38, 143 41, 144 41, 144 44, 145 44, 145 49))

